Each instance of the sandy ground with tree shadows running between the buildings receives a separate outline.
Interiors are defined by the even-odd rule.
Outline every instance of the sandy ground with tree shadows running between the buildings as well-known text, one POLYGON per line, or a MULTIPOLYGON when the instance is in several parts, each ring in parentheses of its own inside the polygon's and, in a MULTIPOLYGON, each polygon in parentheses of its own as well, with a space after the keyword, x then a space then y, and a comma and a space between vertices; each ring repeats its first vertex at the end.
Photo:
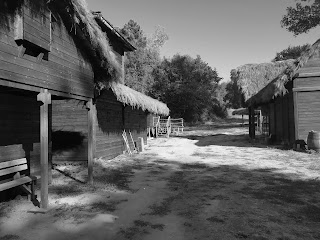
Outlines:
POLYGON ((320 157, 250 143, 230 124, 153 139, 144 153, 59 165, 50 210, 0 203, 0 239, 320 239, 320 157))

